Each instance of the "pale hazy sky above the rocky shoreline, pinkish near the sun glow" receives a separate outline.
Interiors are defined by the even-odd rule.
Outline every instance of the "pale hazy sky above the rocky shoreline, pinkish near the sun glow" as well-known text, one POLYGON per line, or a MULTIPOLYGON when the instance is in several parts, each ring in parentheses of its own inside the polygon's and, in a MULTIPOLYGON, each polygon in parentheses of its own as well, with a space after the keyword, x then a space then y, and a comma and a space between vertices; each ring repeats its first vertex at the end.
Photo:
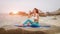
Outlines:
POLYGON ((0 13, 32 11, 37 8, 43 12, 60 8, 60 0, 0 0, 0 13))

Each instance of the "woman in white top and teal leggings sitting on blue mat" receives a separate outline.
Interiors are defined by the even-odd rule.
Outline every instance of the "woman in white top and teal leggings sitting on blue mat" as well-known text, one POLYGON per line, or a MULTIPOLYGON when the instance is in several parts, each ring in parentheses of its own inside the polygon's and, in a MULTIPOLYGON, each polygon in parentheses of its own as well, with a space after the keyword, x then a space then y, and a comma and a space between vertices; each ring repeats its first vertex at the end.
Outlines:
POLYGON ((28 15, 28 20, 24 22, 25 24, 28 24, 28 22, 31 24, 31 27, 39 27, 39 11, 38 9, 34 8, 32 12, 28 15), (34 21, 30 20, 30 18, 33 18, 34 21))

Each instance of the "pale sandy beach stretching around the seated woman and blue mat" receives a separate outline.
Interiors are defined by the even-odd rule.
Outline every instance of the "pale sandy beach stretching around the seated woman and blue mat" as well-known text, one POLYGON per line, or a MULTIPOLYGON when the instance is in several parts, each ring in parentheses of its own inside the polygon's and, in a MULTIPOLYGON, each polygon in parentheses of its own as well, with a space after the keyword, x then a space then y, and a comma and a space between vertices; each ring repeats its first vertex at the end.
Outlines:
POLYGON ((26 16, 20 15, 8 15, 8 14, 0 14, 0 28, 4 28, 5 30, 11 29, 22 29, 25 31, 42 31, 48 34, 59 34, 60 33, 60 15, 56 16, 46 16, 39 18, 39 23, 41 26, 51 26, 49 28, 41 27, 41 28, 24 28, 24 27, 15 27, 15 24, 23 24, 28 18, 26 16))

